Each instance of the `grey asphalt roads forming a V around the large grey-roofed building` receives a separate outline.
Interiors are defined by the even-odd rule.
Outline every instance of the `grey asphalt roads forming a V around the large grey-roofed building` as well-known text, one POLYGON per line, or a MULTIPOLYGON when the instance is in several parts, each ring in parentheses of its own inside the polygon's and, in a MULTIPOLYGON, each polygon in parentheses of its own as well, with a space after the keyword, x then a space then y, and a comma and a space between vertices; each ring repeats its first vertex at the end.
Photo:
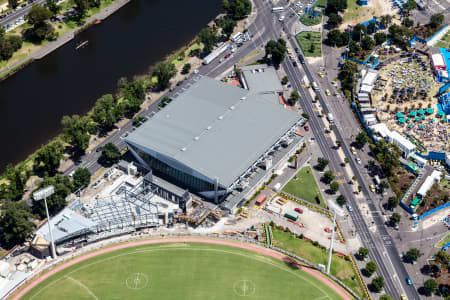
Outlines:
MULTIPOLYGON (((255 49, 263 47, 265 42, 267 42, 269 39, 279 38, 280 33, 282 32, 282 25, 280 22, 278 22, 278 16, 271 13, 272 5, 267 1, 260 2, 259 0, 256 0, 255 6, 255 9, 258 13, 256 15, 256 18, 248 26, 249 32, 253 35, 253 39, 251 41, 245 43, 241 48, 238 48, 236 53, 234 53, 230 58, 224 60, 223 62, 220 62, 220 58, 218 58, 208 65, 200 66, 198 68, 198 74, 192 74, 190 77, 188 77, 187 80, 183 82, 182 85, 176 87, 172 93, 166 93, 165 95, 168 95, 170 97, 182 92, 190 84, 198 80, 201 76, 217 77, 231 70, 231 68, 233 68, 233 66, 237 62, 239 62, 248 54, 252 53, 255 49)), ((289 27, 289 25, 292 24, 296 18, 288 18, 288 16, 286 17, 287 18, 285 21, 285 26, 289 27)), ((289 41, 293 48, 297 47, 292 39, 289 39, 289 41)), ((299 67, 294 67, 292 63, 288 61, 288 59, 286 59, 282 63, 282 67, 285 69, 293 87, 297 89, 301 94, 301 107, 310 116, 310 128, 316 137, 316 141, 320 146, 324 157, 326 157, 330 161, 330 169, 332 169, 335 173, 340 172, 342 174, 345 174, 345 171, 339 163, 340 158, 338 157, 336 150, 333 149, 333 142, 330 139, 326 138, 323 134, 324 124, 322 123, 322 120, 319 119, 317 117, 317 114, 313 111, 312 98, 309 92, 301 86, 301 78, 303 78, 305 74, 311 82, 317 80, 313 77, 307 65, 299 64, 299 67)), ((320 104, 322 105, 325 112, 328 113, 328 108, 327 104, 325 103, 324 96, 321 93, 319 93, 318 96, 320 104)), ((176 98, 174 101, 176 101, 176 98)), ((141 112, 139 115, 151 116, 153 112, 157 112, 158 102, 159 101, 155 101, 154 103, 152 103, 145 111, 141 112)), ((347 116, 348 113, 345 113, 342 116, 335 117, 347 118, 347 116)), ((351 116, 351 118, 354 117, 351 116)), ((120 149, 124 149, 125 144, 123 143, 121 136, 124 135, 127 131, 132 131, 132 129, 133 126, 131 124, 131 121, 129 121, 120 130, 116 130, 113 134, 108 136, 102 143, 99 144, 98 147, 102 147, 106 143, 112 142, 116 144, 120 149)), ((352 157, 349 151, 349 141, 343 138, 337 126, 334 127, 334 133, 338 140, 343 141, 342 150, 344 151, 345 155, 347 157, 352 157)), ((85 154, 81 157, 80 163, 71 166, 68 170, 66 170, 65 174, 69 174, 78 167, 85 167, 88 168, 91 172, 96 172, 101 167, 98 164, 98 158, 100 157, 100 155, 101 152, 96 151, 85 154)), ((402 293, 405 293, 408 296, 408 299, 420 299, 416 289, 406 284, 405 279, 406 277, 408 277, 408 274, 393 243, 392 237, 389 235, 389 232, 384 225, 384 218, 380 215, 380 212, 374 203, 374 199, 369 192, 369 183, 367 179, 363 177, 363 175, 361 174, 361 170, 353 160, 350 160, 350 167, 357 177, 358 182, 362 186, 362 193, 366 198, 367 204, 374 220, 374 224, 372 224, 371 230, 373 230, 373 228, 375 230, 371 231, 369 229, 369 226, 366 224, 364 216, 358 209, 358 205, 356 199, 354 198, 351 187, 348 184, 341 184, 340 190, 341 193, 346 196, 349 203, 354 207, 353 211, 349 212, 349 214, 355 224, 356 232, 360 235, 363 244, 370 249, 370 259, 377 263, 379 268, 378 273, 385 278, 386 293, 394 297, 394 299, 400 299, 400 294, 402 293)), ((346 178, 347 182, 349 180, 350 178, 346 178)))

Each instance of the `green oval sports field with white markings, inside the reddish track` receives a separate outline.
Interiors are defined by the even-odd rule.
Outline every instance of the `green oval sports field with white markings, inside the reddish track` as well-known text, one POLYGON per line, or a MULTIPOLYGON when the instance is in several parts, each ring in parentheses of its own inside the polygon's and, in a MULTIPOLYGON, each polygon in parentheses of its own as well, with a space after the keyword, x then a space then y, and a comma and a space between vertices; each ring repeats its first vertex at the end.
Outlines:
POLYGON ((21 299, 351 299, 317 276, 247 249, 180 241, 93 256, 21 299))

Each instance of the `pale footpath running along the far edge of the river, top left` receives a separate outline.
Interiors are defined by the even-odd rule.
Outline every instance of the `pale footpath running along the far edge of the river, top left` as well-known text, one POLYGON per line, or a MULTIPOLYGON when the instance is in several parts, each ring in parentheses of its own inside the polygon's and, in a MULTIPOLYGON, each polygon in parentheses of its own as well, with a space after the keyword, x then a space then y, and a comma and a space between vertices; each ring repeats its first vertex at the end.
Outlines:
POLYGON ((106 7, 105 9, 100 11, 99 13, 93 15, 88 20, 86 20, 86 22, 83 25, 78 26, 78 27, 72 29, 71 31, 65 33, 64 35, 60 36, 56 41, 48 43, 47 45, 45 45, 44 47, 40 48, 36 52, 34 52, 34 53, 28 55, 27 57, 19 60, 15 64, 13 64, 13 65, 11 65, 11 66, 3 69, 3 70, 0 70, 0 78, 3 77, 8 72, 10 72, 10 70, 14 70, 14 69, 20 67, 22 64, 29 63, 29 62, 31 62, 33 60, 42 59, 43 57, 45 57, 49 53, 51 53, 54 50, 58 49, 62 45, 66 44, 67 42, 71 41, 75 37, 76 33, 79 32, 84 27, 89 26, 89 24, 92 24, 92 23, 94 23, 97 20, 105 20, 107 17, 109 17, 110 15, 115 13, 117 10, 119 10, 119 8, 121 8, 122 6, 124 6, 125 4, 127 4, 130 1, 131 0, 116 0, 110 6, 106 7))

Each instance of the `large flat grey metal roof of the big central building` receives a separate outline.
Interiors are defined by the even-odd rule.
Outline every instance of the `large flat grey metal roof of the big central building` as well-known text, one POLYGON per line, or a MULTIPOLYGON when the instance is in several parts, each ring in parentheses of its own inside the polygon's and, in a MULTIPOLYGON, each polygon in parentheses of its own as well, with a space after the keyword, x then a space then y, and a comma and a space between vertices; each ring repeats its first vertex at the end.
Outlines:
POLYGON ((230 186, 301 116, 249 91, 203 77, 126 141, 230 186))

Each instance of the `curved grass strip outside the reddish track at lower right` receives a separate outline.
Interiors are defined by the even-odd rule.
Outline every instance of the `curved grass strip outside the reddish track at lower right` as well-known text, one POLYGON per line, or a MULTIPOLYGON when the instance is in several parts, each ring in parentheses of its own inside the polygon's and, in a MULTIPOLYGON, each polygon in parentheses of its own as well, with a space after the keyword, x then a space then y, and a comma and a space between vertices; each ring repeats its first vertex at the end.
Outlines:
MULTIPOLYGON (((301 240, 291 233, 284 232, 277 228, 272 229, 274 246, 296 254, 314 264, 327 265, 327 250, 320 249, 319 247, 311 244, 309 241, 301 240)), ((330 271, 333 276, 341 280, 358 296, 362 297, 363 290, 350 261, 346 261, 340 256, 333 255, 330 271)))

